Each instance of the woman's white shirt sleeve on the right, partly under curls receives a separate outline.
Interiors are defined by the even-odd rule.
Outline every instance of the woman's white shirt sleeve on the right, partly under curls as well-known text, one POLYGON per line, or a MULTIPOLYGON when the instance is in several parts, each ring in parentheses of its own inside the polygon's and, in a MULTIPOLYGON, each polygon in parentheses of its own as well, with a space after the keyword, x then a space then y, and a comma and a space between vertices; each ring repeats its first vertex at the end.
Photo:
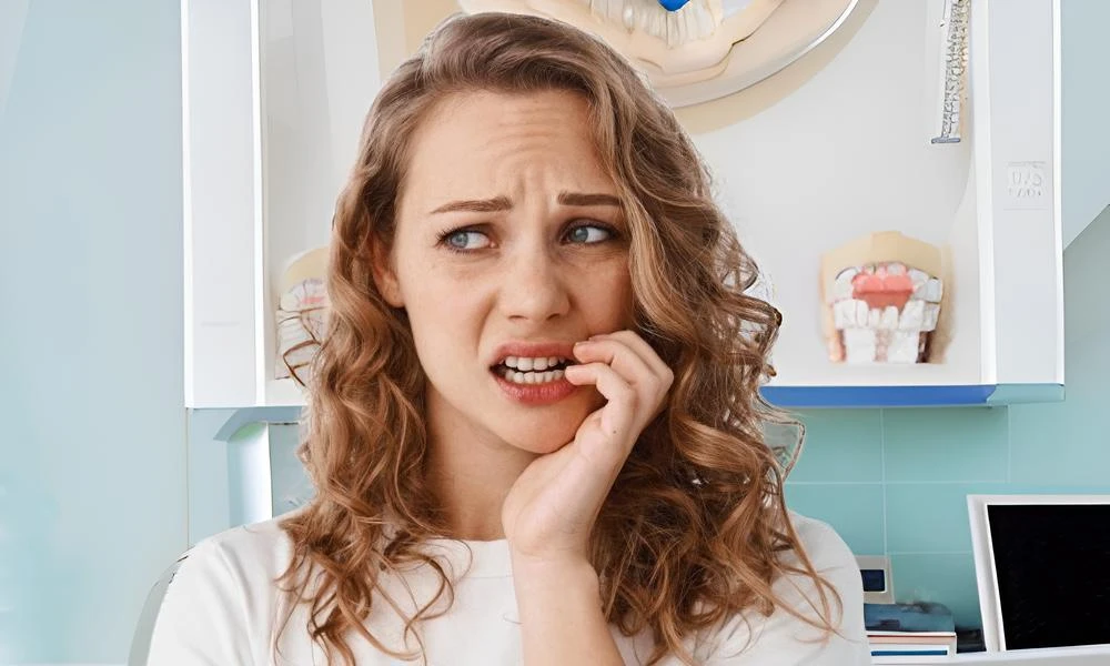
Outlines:
MULTIPOLYGON (((783 608, 769 616, 757 612, 731 618, 712 640, 705 666, 866 666, 871 650, 864 628, 864 585, 856 558, 840 536, 824 523, 797 516, 795 526, 814 568, 840 595, 836 614, 830 598, 835 634, 809 625, 783 608), (803 526, 800 523, 804 523, 803 526)), ((814 582, 787 575, 773 584, 775 593, 807 617, 820 608, 814 582), (813 607, 810 607, 810 601, 813 607)))

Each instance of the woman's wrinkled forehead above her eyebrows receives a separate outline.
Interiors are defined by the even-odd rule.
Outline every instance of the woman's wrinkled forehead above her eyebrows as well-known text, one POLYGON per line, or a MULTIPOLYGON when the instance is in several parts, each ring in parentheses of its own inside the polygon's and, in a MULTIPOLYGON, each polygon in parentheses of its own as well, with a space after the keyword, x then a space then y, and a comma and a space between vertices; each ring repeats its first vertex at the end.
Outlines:
MULTIPOLYGON (((507 186, 543 170, 565 186, 612 181, 599 158, 589 107, 571 91, 465 91, 438 102, 417 128, 408 151, 406 190, 507 186)), ((467 191, 450 194, 493 195, 467 191)))

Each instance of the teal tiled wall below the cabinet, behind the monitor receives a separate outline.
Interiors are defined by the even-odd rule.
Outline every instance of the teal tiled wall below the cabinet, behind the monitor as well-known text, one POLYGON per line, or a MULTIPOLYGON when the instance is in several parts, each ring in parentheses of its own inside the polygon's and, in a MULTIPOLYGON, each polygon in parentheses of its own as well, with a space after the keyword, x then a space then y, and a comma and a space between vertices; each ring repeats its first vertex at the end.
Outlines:
POLYGON ((1062 403, 801 412, 790 507, 830 523, 859 555, 890 555, 898 601, 940 602, 979 626, 965 497, 1110 493, 1108 253, 1110 212, 1064 252, 1062 403))

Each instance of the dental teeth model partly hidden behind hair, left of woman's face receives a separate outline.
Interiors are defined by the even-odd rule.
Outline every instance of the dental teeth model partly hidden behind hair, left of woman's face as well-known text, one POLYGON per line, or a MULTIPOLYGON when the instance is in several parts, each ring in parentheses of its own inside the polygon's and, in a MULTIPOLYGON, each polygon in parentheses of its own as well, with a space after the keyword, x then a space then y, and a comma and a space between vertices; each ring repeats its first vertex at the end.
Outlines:
POLYGON ((275 314, 276 380, 293 377, 301 386, 309 385, 312 359, 320 349, 327 325, 326 260, 326 249, 299 254, 290 260, 282 276, 275 314))

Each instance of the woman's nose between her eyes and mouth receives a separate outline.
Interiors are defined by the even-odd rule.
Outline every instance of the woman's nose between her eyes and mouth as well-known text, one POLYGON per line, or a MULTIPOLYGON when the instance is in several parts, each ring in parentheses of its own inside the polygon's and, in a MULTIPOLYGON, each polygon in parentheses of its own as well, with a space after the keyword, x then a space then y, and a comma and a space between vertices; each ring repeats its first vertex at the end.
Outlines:
POLYGON ((509 319, 545 322, 571 307, 564 269, 546 248, 532 244, 508 259, 501 284, 501 307, 509 319))

